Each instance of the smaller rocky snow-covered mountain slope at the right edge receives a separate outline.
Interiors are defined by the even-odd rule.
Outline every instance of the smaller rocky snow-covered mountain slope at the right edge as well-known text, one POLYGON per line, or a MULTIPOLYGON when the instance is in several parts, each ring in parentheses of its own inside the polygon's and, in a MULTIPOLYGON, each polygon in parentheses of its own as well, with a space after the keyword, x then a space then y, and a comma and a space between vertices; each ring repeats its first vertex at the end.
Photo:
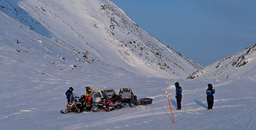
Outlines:
POLYGON ((256 75, 256 44, 194 72, 188 79, 222 79, 256 75))

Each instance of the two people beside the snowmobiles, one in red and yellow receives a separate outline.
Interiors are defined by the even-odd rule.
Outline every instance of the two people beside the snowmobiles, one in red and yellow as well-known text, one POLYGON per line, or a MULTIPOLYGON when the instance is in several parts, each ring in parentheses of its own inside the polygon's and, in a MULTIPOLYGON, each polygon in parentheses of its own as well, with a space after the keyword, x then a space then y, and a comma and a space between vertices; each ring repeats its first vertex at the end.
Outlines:
MULTIPOLYGON (((74 88, 70 87, 69 89, 67 89, 67 91, 65 92, 66 98, 67 98, 67 105, 70 105, 72 103, 72 100, 70 100, 73 96, 73 91, 74 88)), ((85 87, 85 102, 83 104, 83 106, 86 107, 86 111, 91 111, 92 110, 92 89, 90 87, 85 87)))

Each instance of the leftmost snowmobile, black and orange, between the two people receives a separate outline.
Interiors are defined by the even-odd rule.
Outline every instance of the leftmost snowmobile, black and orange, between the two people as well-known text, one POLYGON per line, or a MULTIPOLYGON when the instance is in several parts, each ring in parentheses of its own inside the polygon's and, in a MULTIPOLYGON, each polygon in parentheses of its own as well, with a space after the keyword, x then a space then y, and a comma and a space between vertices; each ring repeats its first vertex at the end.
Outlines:
POLYGON ((70 113, 70 112, 75 112, 75 113, 80 113, 81 111, 85 110, 86 108, 84 107, 84 102, 85 102, 85 96, 81 96, 80 99, 78 99, 80 97, 77 96, 77 94, 72 94, 72 96, 70 97, 71 102, 67 105, 65 111, 63 111, 61 109, 61 113, 70 113), (75 95, 75 96, 74 96, 75 95), (78 100, 79 102, 78 102, 78 100))

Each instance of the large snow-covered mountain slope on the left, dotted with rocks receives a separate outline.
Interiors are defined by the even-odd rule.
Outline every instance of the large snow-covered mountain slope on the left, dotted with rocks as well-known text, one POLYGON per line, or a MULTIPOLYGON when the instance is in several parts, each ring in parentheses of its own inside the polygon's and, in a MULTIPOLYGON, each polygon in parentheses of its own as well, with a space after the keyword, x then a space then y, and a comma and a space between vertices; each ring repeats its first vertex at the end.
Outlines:
MULTIPOLYGON (((0 11, 1 50, 24 56, 19 59, 39 65, 39 70, 41 64, 45 69, 56 65, 63 66, 58 69, 78 69, 91 64, 178 79, 202 68, 142 30, 108 0, 1 0, 0 11), (38 61, 30 61, 30 56, 38 61)), ((2 56, 8 57, 6 54, 2 56)))

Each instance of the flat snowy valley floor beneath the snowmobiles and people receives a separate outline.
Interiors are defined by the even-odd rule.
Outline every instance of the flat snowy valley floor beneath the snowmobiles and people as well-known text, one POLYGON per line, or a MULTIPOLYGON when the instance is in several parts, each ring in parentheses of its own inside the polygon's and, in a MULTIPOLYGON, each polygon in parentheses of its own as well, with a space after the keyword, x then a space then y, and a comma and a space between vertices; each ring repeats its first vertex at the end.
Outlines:
MULTIPOLYGON (((29 71, 29 69, 28 69, 29 71)), ((125 74, 125 73, 124 73, 125 74)), ((61 73, 59 74, 61 75, 61 73)), ((0 129, 254 129, 256 115, 255 77, 226 80, 178 80, 183 89, 182 110, 176 111, 177 80, 127 76, 92 77, 66 75, 27 76, 3 81, 1 78, 0 129), (100 80, 99 80, 100 79, 100 80), (206 87, 213 84, 215 102, 206 109, 206 87), (153 98, 151 105, 124 107, 109 112, 62 114, 65 91, 85 94, 85 86, 92 88, 130 87, 138 98, 153 98), (174 121, 164 89, 167 89, 174 121)))

